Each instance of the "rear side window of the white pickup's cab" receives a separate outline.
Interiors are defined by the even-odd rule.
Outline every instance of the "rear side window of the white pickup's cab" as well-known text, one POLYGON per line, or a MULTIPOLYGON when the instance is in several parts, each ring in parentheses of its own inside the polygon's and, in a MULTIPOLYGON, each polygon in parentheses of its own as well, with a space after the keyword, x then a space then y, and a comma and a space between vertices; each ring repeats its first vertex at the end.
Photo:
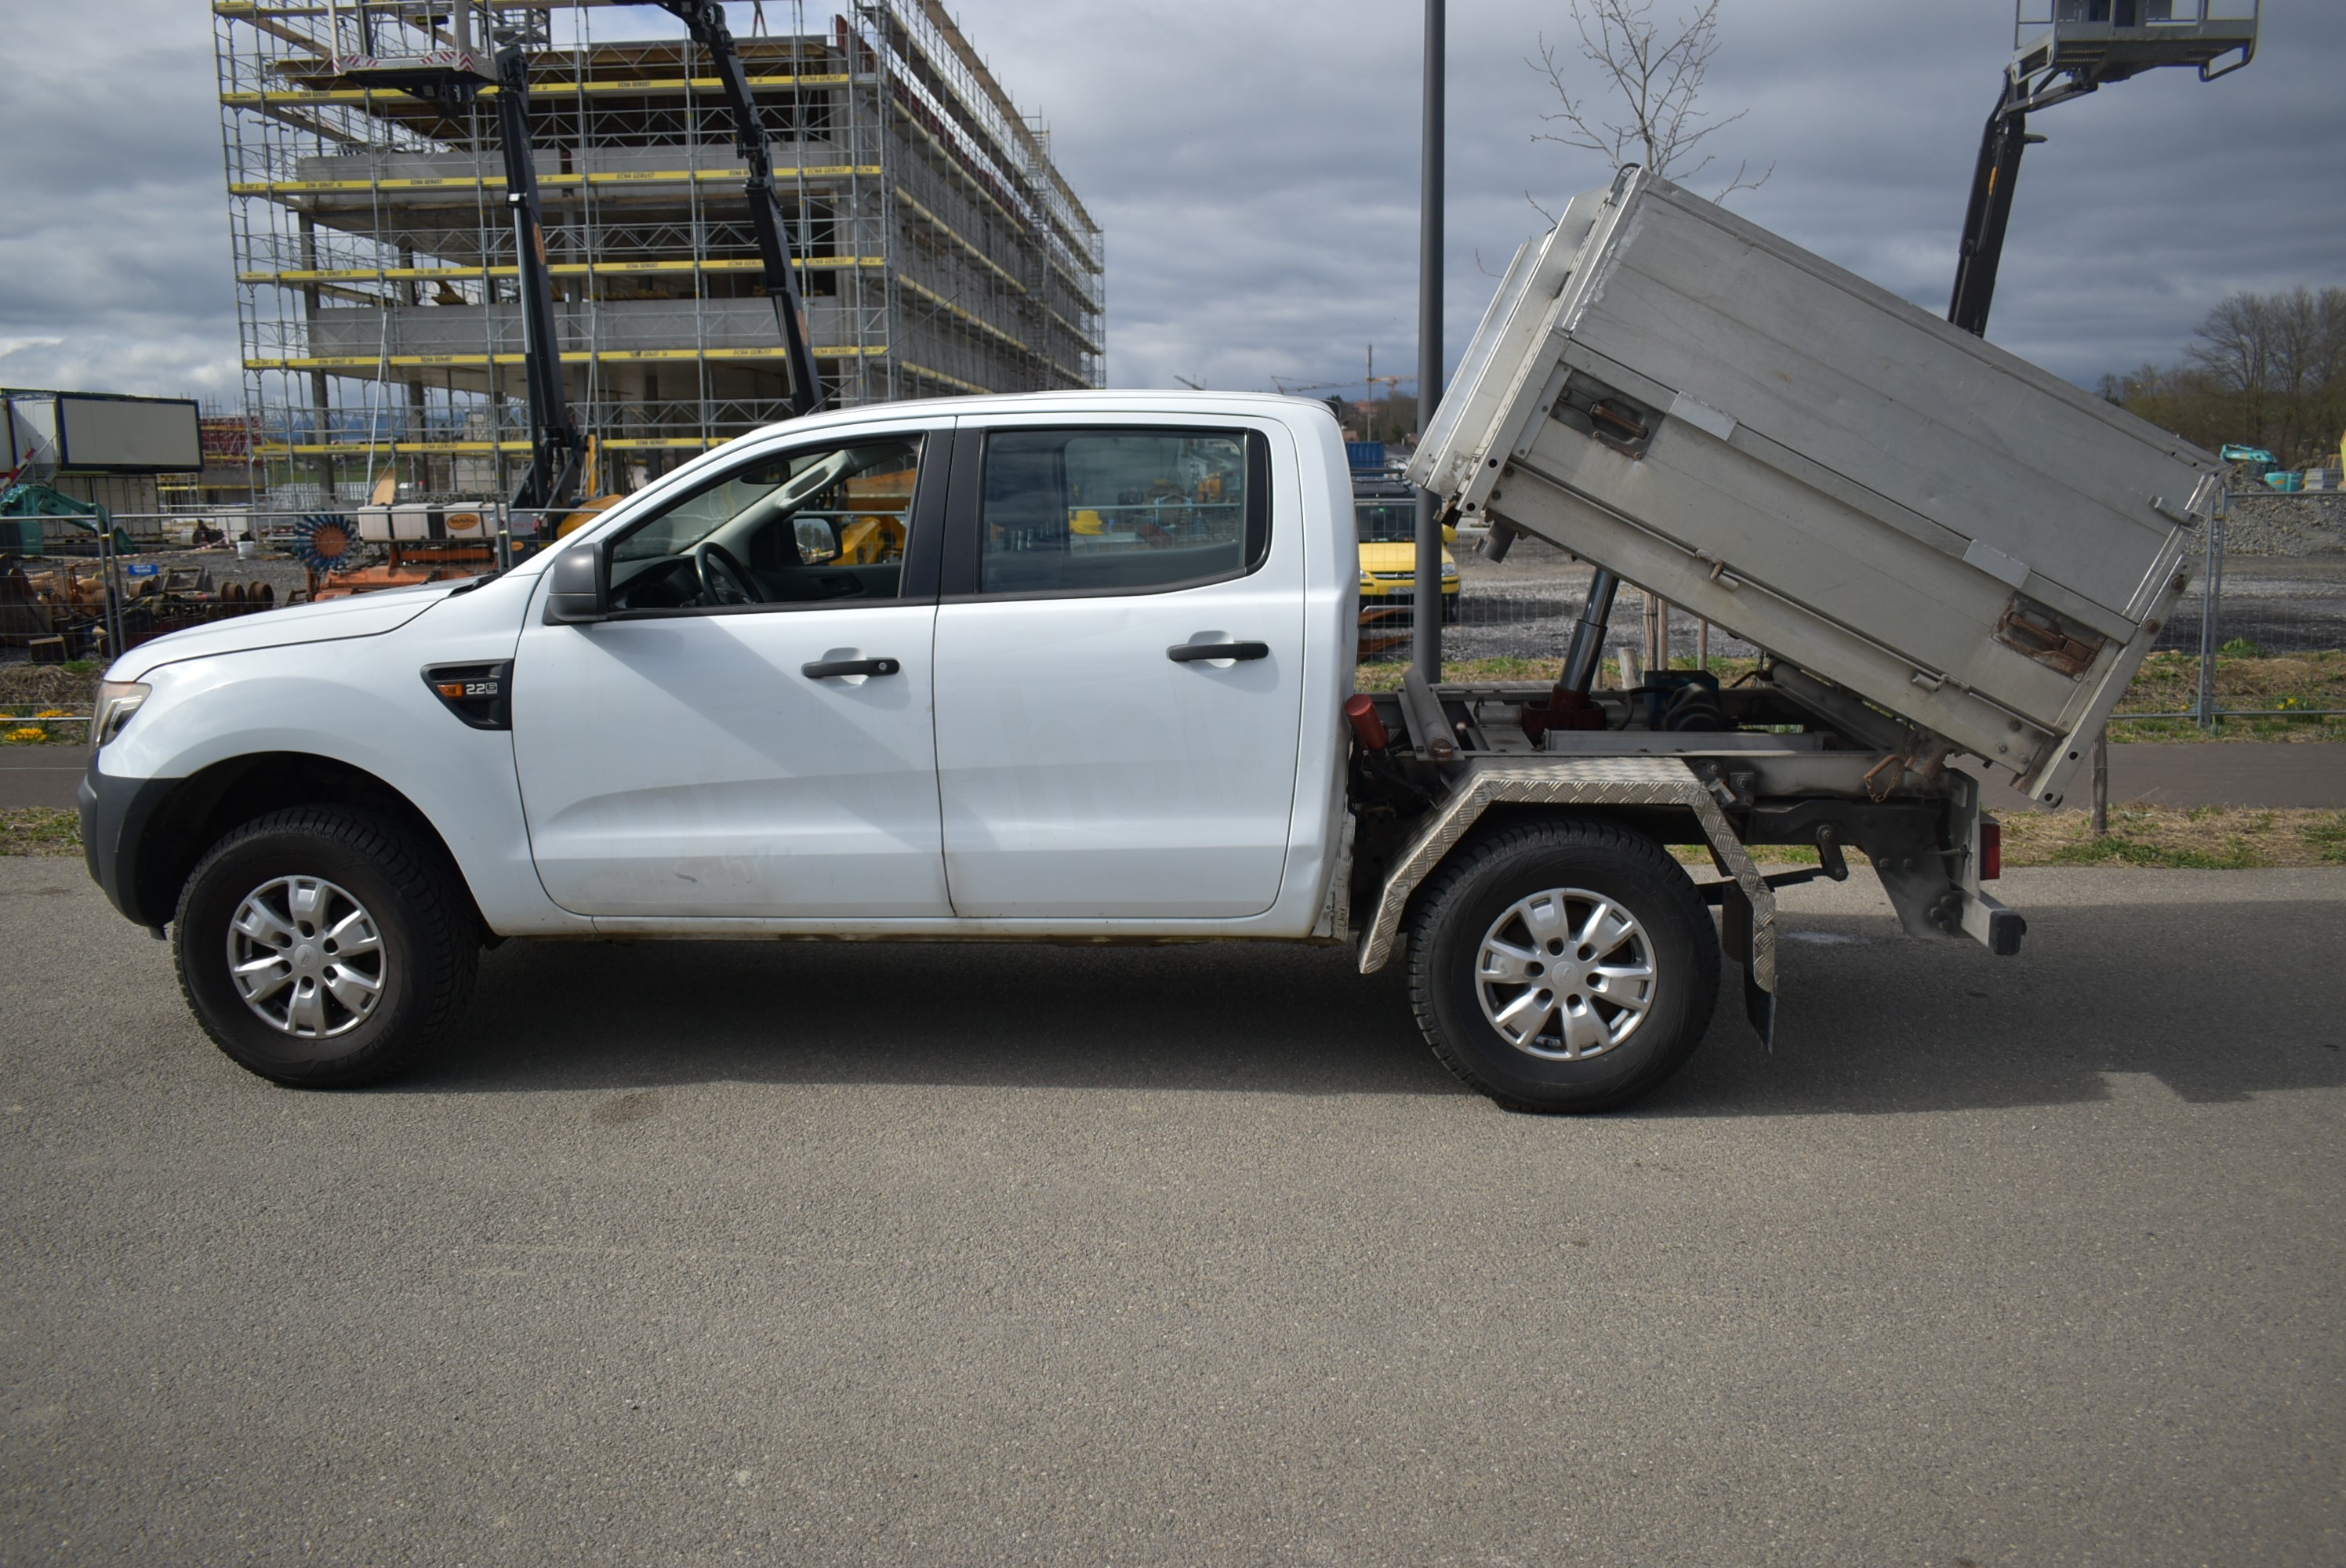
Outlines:
POLYGON ((1269 446, 1243 430, 985 437, 981 594, 1133 594, 1243 577, 1269 549, 1269 446))

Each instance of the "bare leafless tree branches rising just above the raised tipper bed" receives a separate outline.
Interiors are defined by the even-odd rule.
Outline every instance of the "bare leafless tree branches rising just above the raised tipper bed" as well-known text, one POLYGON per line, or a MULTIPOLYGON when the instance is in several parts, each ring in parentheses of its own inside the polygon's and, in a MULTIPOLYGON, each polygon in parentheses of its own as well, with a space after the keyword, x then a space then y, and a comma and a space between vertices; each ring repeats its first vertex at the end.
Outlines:
MULTIPOLYGON (((1696 108, 1703 80, 1710 75, 1710 56, 1720 52, 1720 0, 1706 0, 1694 16, 1680 19, 1675 33, 1654 21, 1652 0, 1572 0, 1572 26, 1579 31, 1581 59, 1595 66, 1598 80, 1609 89, 1607 99, 1619 99, 1623 117, 1609 120, 1586 94, 1572 94, 1565 80, 1567 66, 1558 61, 1562 45, 1551 45, 1541 33, 1539 59, 1525 63, 1548 77, 1562 108, 1541 115, 1541 122, 1555 129, 1534 131, 1532 141, 1600 153, 1614 164, 1640 162, 1684 183, 1715 162, 1703 153, 1687 167, 1703 141, 1750 113, 1710 120, 1696 108)), ((1750 164, 1738 162, 1736 176, 1713 200, 1724 202, 1736 190, 1757 190, 1776 164, 1760 178, 1745 178, 1748 171, 1750 164)))

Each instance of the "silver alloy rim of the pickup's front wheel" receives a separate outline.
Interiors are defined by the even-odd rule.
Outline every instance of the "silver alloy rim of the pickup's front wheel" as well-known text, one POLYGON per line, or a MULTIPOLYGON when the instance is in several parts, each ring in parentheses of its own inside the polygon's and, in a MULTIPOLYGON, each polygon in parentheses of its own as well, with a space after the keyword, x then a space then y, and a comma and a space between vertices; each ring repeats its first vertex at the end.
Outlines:
POLYGON ((345 1035, 389 979, 382 932, 347 890, 282 876, 244 894, 228 922, 228 976, 270 1028, 296 1040, 345 1035))

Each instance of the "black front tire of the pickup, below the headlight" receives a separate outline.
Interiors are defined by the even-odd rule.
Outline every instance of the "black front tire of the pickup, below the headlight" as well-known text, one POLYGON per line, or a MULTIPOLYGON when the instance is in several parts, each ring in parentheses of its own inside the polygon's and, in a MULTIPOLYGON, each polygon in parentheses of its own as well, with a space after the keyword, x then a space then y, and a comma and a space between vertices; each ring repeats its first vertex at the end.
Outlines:
MULTIPOLYGON (((260 939, 242 941, 267 958, 260 939)), ((181 890, 171 951, 188 1007, 237 1066, 279 1084, 352 1089, 406 1070, 448 1035, 472 998, 481 922, 453 869, 408 829, 343 805, 298 805, 246 822, 204 854, 181 890), (319 927, 359 908, 368 925, 350 939, 352 955, 333 960, 326 932, 305 925, 286 901, 293 887, 286 878, 331 885, 319 927), (335 892, 347 901, 335 901, 335 892), (310 1035, 293 1033, 303 1021, 289 1028, 263 1019, 230 974, 230 922, 249 899, 289 911, 284 941, 267 941, 286 948, 286 974, 296 972, 296 958, 310 972, 258 1005, 289 1012, 291 995, 307 984, 317 1009, 310 1035), (373 946, 359 953, 359 941, 373 946), (331 979, 319 981, 319 972, 331 979), (361 1007, 340 1005, 345 993, 359 995, 361 1007)))

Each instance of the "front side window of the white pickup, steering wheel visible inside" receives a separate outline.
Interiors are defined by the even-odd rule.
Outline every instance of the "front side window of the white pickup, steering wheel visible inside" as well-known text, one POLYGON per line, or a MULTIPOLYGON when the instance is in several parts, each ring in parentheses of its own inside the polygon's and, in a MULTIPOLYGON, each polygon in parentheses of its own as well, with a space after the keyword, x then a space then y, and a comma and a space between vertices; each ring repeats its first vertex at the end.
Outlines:
POLYGON ((734 469, 612 545, 612 601, 690 610, 896 599, 917 479, 917 437, 734 469))

